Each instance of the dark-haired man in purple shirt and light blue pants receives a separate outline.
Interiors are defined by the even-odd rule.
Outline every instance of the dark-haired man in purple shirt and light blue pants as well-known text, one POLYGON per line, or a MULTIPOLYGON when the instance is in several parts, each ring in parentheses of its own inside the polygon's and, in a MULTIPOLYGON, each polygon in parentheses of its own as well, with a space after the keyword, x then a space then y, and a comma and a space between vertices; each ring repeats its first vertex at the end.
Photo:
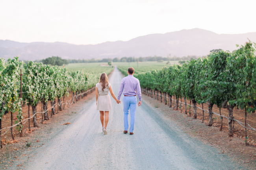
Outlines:
POLYGON ((134 120, 135 120, 135 110, 137 104, 136 95, 139 97, 138 106, 141 106, 141 87, 139 85, 139 80, 134 77, 134 68, 128 68, 128 76, 124 77, 121 81, 120 90, 117 99, 120 101, 120 97, 124 90, 124 133, 128 133, 128 114, 130 110, 130 135, 133 135, 134 131, 134 120), (137 91, 137 93, 136 93, 137 91))

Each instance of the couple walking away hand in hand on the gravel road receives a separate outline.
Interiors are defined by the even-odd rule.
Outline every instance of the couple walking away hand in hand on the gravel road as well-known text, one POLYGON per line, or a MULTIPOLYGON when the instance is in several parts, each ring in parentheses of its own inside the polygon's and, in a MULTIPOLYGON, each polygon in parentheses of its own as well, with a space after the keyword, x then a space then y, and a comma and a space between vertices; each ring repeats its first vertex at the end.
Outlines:
POLYGON ((139 97, 138 106, 141 106, 141 87, 139 85, 139 80, 136 79, 134 74, 134 68, 128 68, 128 76, 124 77, 121 81, 118 97, 115 97, 113 93, 111 84, 108 82, 108 77, 106 73, 102 73, 100 75, 100 80, 96 84, 96 108, 100 111, 100 121, 102 124, 102 131, 106 135, 107 134, 107 125, 109 119, 109 111, 111 110, 111 100, 108 92, 110 92, 111 96, 117 104, 121 103, 120 97, 122 93, 123 104, 124 104, 124 133, 128 133, 128 114, 130 110, 130 135, 133 135, 134 131, 134 120, 135 120, 135 110, 137 105, 136 95, 139 97), (104 119, 105 116, 105 119, 104 119))

